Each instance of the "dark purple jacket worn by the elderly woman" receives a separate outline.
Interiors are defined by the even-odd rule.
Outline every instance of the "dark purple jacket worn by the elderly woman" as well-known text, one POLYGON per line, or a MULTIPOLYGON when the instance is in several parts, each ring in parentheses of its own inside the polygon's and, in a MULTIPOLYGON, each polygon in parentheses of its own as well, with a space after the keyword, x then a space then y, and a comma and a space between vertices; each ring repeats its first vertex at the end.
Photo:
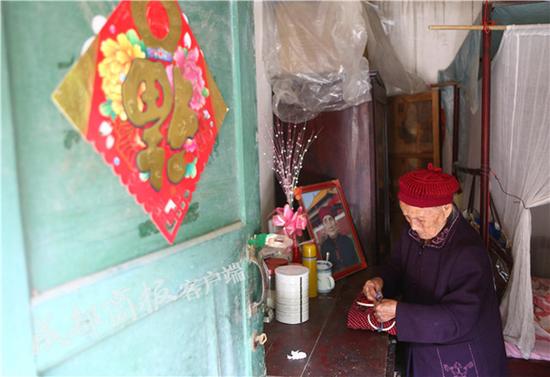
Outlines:
POLYGON ((409 227, 382 269, 383 293, 402 294, 397 338, 408 343, 408 376, 505 376, 502 325, 489 255, 454 209, 424 244, 409 227))

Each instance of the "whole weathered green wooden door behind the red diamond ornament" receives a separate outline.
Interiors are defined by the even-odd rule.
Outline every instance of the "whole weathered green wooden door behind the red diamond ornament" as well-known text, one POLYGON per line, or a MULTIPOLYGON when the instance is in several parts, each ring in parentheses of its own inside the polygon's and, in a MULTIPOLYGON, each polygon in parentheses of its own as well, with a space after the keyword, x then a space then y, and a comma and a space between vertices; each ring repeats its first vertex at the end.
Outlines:
POLYGON ((2 357, 19 375, 263 375, 252 4, 180 2, 228 105, 173 246, 50 96, 111 2, 2 2, 2 357))

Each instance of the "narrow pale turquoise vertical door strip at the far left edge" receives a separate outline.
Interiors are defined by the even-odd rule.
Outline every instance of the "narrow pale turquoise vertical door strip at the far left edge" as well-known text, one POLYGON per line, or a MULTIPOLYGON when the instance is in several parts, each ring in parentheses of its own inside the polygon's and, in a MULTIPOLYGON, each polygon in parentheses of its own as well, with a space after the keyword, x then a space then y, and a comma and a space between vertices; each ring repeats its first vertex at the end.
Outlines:
MULTIPOLYGON (((2 3, 0 3, 2 7, 2 3)), ((17 189, 17 163, 13 136, 10 96, 4 90, 8 86, 8 69, 5 54, 5 33, 2 38, 2 133, 0 151, 2 158, 1 196, 2 217, 0 237, 2 283, 2 352, 0 369, 3 376, 35 375, 32 349, 29 284, 23 232, 21 229, 20 193, 17 189), (17 326, 14 326, 17 324, 17 326)))

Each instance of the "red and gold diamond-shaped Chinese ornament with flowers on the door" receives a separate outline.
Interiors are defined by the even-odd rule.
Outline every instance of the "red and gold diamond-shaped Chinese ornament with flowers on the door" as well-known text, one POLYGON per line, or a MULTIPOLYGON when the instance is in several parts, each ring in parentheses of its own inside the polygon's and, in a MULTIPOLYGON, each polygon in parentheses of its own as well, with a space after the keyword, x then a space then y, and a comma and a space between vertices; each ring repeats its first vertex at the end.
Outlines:
POLYGON ((227 112, 177 1, 122 1, 52 98, 173 243, 227 112))

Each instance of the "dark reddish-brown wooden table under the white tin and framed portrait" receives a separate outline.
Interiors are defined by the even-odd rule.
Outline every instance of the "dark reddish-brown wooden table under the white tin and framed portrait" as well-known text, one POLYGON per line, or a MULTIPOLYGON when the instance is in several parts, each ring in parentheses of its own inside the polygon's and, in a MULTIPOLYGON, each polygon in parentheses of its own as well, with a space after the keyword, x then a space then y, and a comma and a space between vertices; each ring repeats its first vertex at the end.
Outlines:
POLYGON ((368 278, 362 271, 338 280, 328 295, 309 300, 309 320, 265 324, 268 376, 393 376, 395 340, 385 333, 350 330, 347 311, 368 278), (291 351, 307 354, 288 360, 291 351))

